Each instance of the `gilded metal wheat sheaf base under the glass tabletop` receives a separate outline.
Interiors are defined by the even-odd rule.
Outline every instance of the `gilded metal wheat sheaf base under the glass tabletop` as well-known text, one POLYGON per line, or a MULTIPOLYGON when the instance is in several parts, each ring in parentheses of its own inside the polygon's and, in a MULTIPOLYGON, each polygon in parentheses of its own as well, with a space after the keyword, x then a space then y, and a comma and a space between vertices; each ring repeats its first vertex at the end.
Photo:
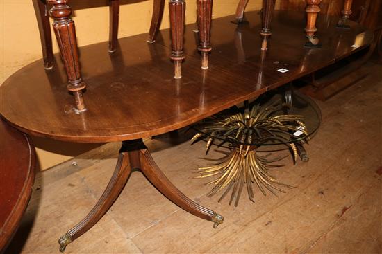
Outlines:
POLYGON ((291 149, 294 163, 297 161, 298 151, 294 142, 308 139, 308 131, 299 115, 277 115, 276 113, 286 107, 281 100, 272 100, 265 105, 245 107, 244 111, 235 114, 222 113, 206 120, 204 127, 192 137, 192 143, 206 138, 206 153, 215 140, 220 140, 219 146, 229 143, 229 152, 217 151, 224 154, 222 158, 206 160, 215 161, 205 167, 199 167, 200 176, 195 178, 216 178, 208 185, 213 185, 207 194, 213 196, 224 190, 221 201, 226 194, 231 192, 229 204, 235 201, 238 206, 240 195, 244 185, 247 188, 248 197, 254 201, 254 189, 256 184, 260 191, 266 195, 266 190, 276 194, 285 192, 282 187, 292 186, 277 181, 269 174, 269 168, 280 167, 272 163, 282 158, 269 158, 260 156, 256 149, 269 142, 283 143, 291 149))

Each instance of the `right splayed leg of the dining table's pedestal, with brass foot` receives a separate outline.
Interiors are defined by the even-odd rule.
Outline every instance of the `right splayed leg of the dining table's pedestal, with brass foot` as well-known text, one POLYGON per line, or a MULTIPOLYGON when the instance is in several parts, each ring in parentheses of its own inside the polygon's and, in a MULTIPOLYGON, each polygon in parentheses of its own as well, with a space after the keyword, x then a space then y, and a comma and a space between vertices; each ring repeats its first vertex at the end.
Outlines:
POLYGON ((213 221, 214 228, 217 228, 219 224, 223 223, 224 217, 222 217, 222 215, 218 215, 213 210, 200 206, 178 190, 174 184, 167 179, 158 165, 156 165, 147 149, 140 150, 140 170, 167 199, 177 206, 201 219, 213 221))

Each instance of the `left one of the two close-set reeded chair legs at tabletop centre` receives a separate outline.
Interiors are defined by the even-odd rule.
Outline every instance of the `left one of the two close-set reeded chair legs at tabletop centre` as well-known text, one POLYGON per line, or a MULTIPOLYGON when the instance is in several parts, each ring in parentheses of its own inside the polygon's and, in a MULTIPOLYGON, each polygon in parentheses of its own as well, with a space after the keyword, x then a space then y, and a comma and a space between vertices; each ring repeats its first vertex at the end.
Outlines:
POLYGON ((172 35, 172 55, 174 60, 174 78, 182 78, 184 21, 185 21, 185 1, 169 1, 169 20, 172 35))

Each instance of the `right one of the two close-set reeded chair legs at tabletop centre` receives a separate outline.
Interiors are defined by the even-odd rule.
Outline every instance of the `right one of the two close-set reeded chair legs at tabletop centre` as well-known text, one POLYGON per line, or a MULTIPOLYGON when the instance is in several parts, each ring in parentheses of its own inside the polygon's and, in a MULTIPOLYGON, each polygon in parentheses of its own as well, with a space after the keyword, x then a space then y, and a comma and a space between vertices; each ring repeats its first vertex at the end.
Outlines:
POLYGON ((213 0, 198 0, 199 21, 199 46, 201 53, 201 69, 208 69, 208 54, 212 47, 210 45, 211 21, 213 16, 213 0))

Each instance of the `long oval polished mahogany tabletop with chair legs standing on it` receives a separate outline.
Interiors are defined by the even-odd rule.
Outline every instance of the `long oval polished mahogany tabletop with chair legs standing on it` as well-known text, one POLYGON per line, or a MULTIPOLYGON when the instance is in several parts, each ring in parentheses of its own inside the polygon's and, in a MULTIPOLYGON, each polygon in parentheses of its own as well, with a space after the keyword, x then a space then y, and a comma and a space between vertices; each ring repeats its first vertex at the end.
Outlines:
MULTIPOLYGON (((14 73, 1 86, 1 114, 13 126, 36 136, 73 142, 110 142, 146 138, 190 125, 249 98, 256 98, 308 73, 347 57, 372 41, 372 33, 338 17, 319 15, 322 48, 304 48, 305 13, 279 12, 272 19, 267 51, 260 51, 260 15, 248 12, 248 24, 213 20, 210 68, 200 68, 193 24, 185 27, 183 77, 175 80, 169 60, 169 30, 155 44, 146 34, 119 39, 108 53, 103 42, 79 48, 87 110, 74 111, 60 57, 45 71, 38 60, 14 73), (354 46, 356 45, 356 46, 354 46), (278 71, 287 69, 287 72, 278 71)), ((81 35, 77 35, 81 37, 81 35)))

